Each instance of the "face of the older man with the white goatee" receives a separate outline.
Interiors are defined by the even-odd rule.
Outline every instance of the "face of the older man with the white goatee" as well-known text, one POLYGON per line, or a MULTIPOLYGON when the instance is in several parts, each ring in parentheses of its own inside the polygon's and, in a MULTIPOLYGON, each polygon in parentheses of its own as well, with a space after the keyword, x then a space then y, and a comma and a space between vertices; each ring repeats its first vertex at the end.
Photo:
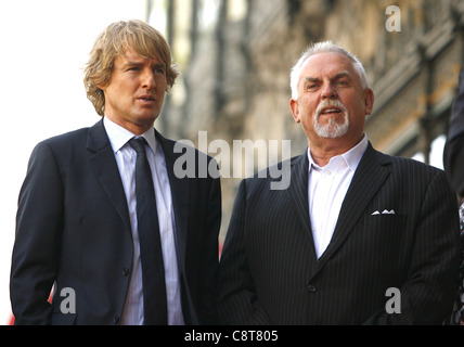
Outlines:
POLYGON ((294 118, 309 143, 324 139, 361 140, 373 92, 363 90, 351 61, 338 53, 310 56, 301 68, 298 100, 291 101, 294 118))

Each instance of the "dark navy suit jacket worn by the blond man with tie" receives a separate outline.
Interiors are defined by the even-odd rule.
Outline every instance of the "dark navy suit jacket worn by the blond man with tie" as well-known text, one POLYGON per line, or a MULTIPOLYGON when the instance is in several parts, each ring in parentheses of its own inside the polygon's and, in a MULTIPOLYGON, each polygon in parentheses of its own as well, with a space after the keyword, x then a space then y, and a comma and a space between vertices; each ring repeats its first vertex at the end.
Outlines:
MULTIPOLYGON (((157 132, 156 138, 172 192, 184 319, 190 324, 211 324, 217 317, 220 180, 209 175, 177 178, 175 162, 183 154, 173 152, 173 141, 157 132)), ((204 155, 194 153, 196 160, 204 155)), ((18 201, 11 271, 15 323, 118 323, 132 269, 131 235, 103 121, 38 144, 18 201), (63 314, 60 308, 67 298, 60 296, 65 287, 76 294, 75 314, 63 314)))

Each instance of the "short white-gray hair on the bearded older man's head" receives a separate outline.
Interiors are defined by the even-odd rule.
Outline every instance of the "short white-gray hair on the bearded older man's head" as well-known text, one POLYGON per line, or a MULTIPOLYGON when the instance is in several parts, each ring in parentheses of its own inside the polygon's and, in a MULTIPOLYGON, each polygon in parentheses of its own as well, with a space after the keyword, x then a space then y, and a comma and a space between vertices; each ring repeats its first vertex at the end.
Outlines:
POLYGON ((358 57, 356 57, 352 53, 348 52, 341 46, 335 44, 332 41, 323 41, 323 42, 318 42, 315 44, 311 44, 310 47, 308 47, 305 50, 305 52, 301 54, 298 62, 292 68, 292 73, 291 73, 292 99, 298 100, 298 80, 300 77, 299 75, 301 73, 302 65, 310 56, 319 53, 339 53, 348 57, 352 62, 355 69, 357 70, 357 73, 359 74, 359 77, 361 78, 361 87, 363 89, 370 88, 368 76, 365 75, 364 66, 362 66, 358 57))

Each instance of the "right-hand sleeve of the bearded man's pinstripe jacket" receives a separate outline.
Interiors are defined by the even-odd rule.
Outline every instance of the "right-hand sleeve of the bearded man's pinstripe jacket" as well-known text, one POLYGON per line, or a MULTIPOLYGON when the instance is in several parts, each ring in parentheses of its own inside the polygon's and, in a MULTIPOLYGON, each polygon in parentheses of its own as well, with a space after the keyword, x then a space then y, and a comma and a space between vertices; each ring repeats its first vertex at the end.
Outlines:
POLYGON ((401 312, 385 310, 372 324, 441 324, 457 291, 460 233, 457 204, 442 171, 431 179, 416 220, 408 279, 399 288, 401 312))

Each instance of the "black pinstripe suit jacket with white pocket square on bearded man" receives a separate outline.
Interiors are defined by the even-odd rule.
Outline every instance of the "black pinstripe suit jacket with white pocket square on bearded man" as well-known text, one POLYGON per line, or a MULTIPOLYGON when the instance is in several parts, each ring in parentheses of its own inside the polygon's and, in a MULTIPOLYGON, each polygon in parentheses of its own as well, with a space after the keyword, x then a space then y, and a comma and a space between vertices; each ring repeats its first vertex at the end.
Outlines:
POLYGON ((220 322, 441 323, 459 267, 457 206, 444 172, 369 144, 318 260, 308 156, 289 164, 286 190, 269 189, 270 175, 240 184, 219 265, 220 322), (386 313, 390 287, 400 290, 401 306, 391 307, 401 313, 386 313))

